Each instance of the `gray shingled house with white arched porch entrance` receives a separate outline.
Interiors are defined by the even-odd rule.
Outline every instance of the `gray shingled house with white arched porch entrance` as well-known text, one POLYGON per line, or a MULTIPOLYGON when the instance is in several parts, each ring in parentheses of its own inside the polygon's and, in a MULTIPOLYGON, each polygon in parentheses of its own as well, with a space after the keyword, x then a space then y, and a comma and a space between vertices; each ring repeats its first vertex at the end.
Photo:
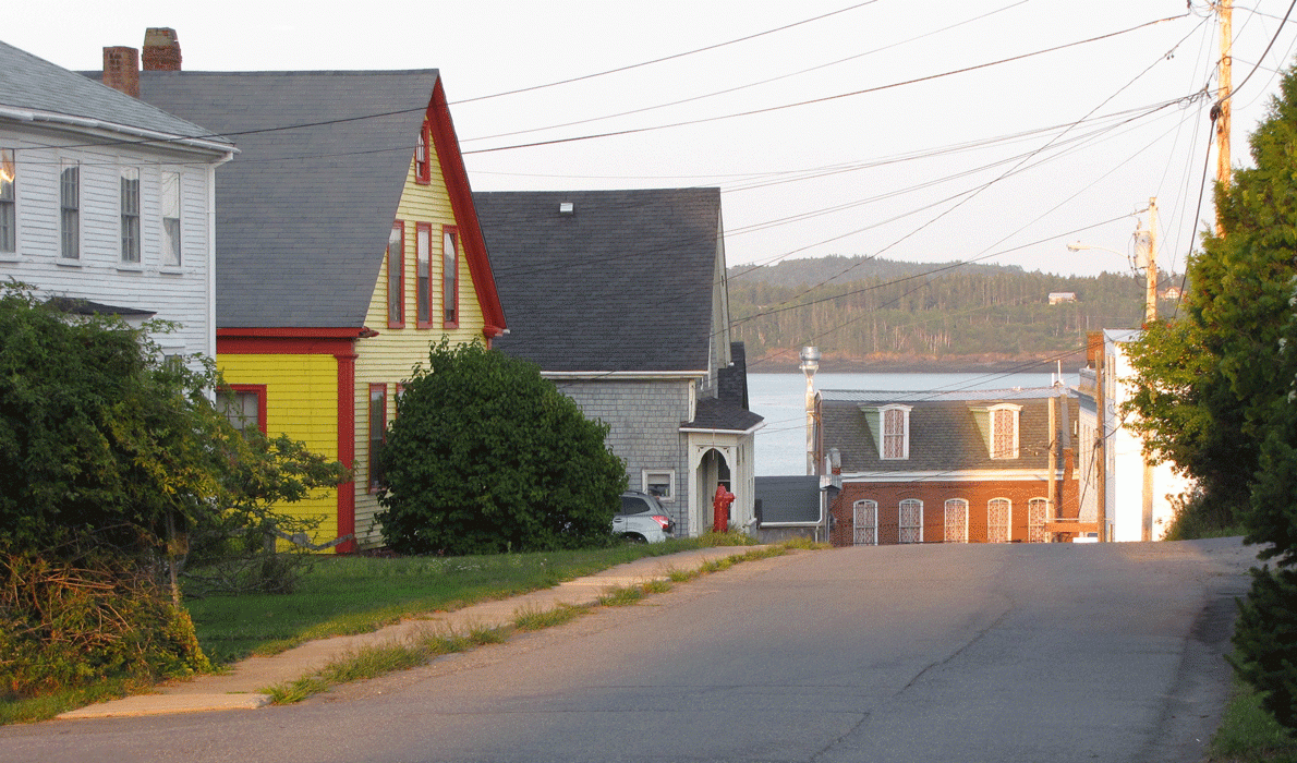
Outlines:
POLYGON ((742 344, 730 343, 720 191, 473 193, 510 333, 494 346, 611 426, 633 489, 677 535, 751 531, 754 433, 742 344))

